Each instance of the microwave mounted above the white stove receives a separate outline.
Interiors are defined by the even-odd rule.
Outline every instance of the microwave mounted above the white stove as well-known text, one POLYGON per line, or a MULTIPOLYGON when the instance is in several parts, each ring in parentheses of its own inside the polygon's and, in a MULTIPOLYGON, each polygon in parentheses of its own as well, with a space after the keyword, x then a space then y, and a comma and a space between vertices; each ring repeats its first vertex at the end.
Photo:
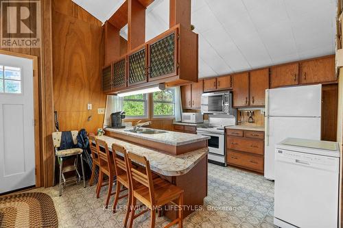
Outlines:
POLYGON ((235 115, 232 102, 233 94, 230 91, 205 92, 201 96, 201 112, 235 115))

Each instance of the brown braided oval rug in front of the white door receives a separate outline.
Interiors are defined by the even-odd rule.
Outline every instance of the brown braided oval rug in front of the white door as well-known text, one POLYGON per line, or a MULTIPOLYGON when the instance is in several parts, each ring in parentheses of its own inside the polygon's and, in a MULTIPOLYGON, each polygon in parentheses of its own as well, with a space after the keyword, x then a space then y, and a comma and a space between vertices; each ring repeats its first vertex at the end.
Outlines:
POLYGON ((54 201, 40 192, 0 197, 0 227, 58 227, 54 201))

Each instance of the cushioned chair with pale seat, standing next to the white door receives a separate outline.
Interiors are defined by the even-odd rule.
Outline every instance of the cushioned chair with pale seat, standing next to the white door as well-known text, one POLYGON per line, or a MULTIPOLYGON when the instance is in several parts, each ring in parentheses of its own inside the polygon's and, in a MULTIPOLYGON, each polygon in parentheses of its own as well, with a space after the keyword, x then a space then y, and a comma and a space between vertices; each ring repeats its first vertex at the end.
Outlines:
MULTIPOLYGON (((74 145, 78 144, 78 138, 77 138, 78 131, 71 131, 71 136, 73 138, 73 144, 74 145)), ((86 188, 86 179, 84 178, 84 163, 82 161, 83 150, 80 148, 60 150, 61 138, 62 138, 62 131, 52 133, 52 142, 54 144, 55 155, 56 157, 58 157, 58 162, 60 162, 60 189, 59 189, 60 196, 62 195, 62 187, 65 187, 67 185, 67 180, 64 177, 64 173, 75 171, 77 175, 76 182, 79 183, 81 180, 81 175, 78 172, 78 155, 80 155, 81 167, 82 167, 82 178, 84 181, 84 188, 86 188), (63 167, 63 159, 72 157, 74 155, 76 155, 76 159, 73 165, 63 167)), ((54 162, 54 171, 55 171, 55 162, 54 162)))

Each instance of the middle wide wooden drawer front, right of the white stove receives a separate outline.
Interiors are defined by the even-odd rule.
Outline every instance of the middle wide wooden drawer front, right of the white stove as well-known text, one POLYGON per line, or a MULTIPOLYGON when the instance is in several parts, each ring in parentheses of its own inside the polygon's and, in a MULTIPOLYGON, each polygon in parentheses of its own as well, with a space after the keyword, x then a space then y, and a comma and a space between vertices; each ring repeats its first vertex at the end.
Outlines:
POLYGON ((227 142, 227 149, 263 155, 264 142, 262 140, 228 136, 227 142))

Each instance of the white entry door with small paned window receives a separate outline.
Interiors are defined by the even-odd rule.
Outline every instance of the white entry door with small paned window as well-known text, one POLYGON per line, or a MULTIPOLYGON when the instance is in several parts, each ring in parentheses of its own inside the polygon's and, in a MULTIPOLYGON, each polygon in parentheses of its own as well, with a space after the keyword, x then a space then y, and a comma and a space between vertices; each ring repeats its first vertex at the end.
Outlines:
POLYGON ((33 61, 0 54, 0 193, 34 186, 33 61))

